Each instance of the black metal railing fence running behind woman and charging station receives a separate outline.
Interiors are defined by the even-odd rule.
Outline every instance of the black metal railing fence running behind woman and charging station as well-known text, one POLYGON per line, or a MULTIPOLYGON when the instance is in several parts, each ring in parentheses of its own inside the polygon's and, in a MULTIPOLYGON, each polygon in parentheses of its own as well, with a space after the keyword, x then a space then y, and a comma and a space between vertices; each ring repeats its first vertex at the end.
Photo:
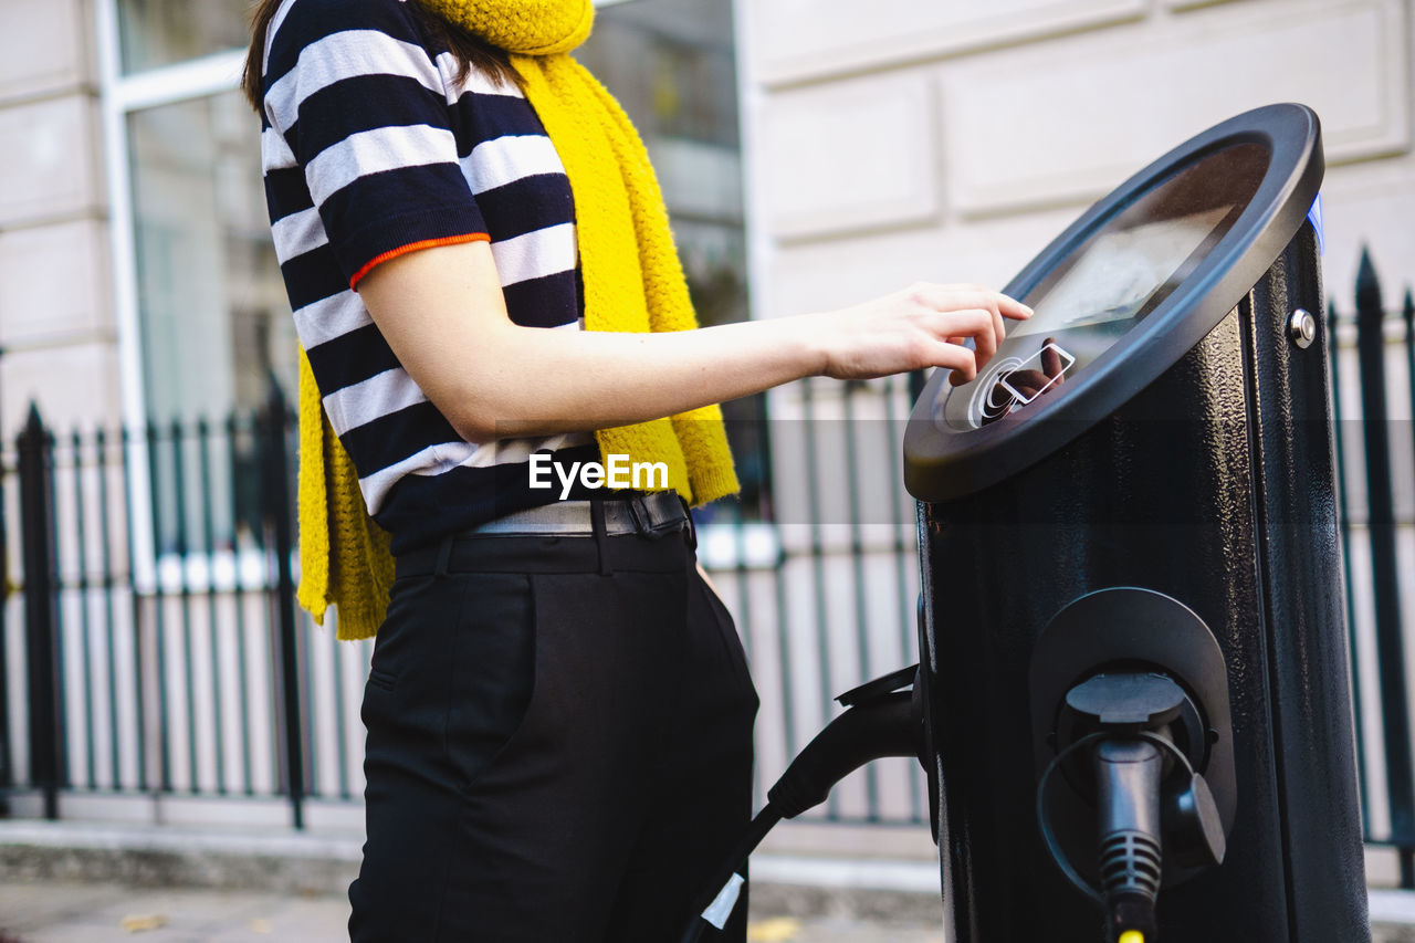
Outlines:
MULTIPOLYGON (((1329 324, 1365 827, 1415 886, 1411 296, 1387 313, 1367 261, 1354 314, 1333 306, 1329 324)), ((761 496, 773 520, 729 505, 700 528, 761 694, 761 786, 829 719, 833 694, 917 660, 897 442, 916 394, 908 378, 773 394, 777 455, 763 455, 797 487, 761 496)), ((0 449, 0 800, 13 814, 82 814, 67 810, 85 797, 245 799, 299 828, 311 804, 357 808, 372 646, 335 643, 294 605, 293 462, 279 391, 219 423, 55 435, 31 411, 0 449)), ((906 760, 853 775, 818 814, 928 817, 906 760)))

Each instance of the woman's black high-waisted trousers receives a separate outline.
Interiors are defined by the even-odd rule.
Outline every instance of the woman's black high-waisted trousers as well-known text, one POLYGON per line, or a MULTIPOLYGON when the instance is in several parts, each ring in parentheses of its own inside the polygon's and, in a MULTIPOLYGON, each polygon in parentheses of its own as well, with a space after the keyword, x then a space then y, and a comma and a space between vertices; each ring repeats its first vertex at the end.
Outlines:
POLYGON ((350 939, 676 943, 749 821, 756 709, 686 528, 400 559, 350 939))

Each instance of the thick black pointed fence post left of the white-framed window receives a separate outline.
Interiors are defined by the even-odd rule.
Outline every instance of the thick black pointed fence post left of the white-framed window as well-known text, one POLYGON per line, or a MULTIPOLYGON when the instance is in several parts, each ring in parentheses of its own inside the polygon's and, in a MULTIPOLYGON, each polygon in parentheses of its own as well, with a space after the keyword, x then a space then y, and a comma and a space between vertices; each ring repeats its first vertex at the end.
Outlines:
POLYGON ((35 404, 30 404, 17 446, 30 780, 44 793, 44 817, 58 818, 65 769, 62 660, 55 620, 58 559, 54 549, 52 436, 44 428, 35 404))

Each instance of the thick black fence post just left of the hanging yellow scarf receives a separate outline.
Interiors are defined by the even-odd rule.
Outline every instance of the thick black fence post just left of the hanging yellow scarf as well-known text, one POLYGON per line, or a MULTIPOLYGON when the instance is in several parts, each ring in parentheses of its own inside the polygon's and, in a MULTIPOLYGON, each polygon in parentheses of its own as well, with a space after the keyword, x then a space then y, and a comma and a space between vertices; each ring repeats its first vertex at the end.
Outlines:
POLYGON ((265 409, 262 447, 262 497, 266 527, 272 537, 276 566, 275 630, 280 646, 280 718, 284 741, 286 786, 290 790, 290 814, 296 828, 304 828, 304 735, 300 724, 299 646, 294 619, 293 508, 290 505, 289 406, 279 384, 270 384, 265 409))

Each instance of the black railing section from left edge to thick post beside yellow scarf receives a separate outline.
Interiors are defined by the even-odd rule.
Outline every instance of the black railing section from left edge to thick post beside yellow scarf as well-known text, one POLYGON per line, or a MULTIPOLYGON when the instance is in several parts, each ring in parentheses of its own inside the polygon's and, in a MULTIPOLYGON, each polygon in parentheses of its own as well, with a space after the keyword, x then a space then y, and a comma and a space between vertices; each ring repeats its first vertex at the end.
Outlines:
POLYGON ((284 796, 303 824, 291 447, 279 391, 219 426, 55 436, 31 408, 0 453, 0 787, 50 818, 75 791, 284 796))

